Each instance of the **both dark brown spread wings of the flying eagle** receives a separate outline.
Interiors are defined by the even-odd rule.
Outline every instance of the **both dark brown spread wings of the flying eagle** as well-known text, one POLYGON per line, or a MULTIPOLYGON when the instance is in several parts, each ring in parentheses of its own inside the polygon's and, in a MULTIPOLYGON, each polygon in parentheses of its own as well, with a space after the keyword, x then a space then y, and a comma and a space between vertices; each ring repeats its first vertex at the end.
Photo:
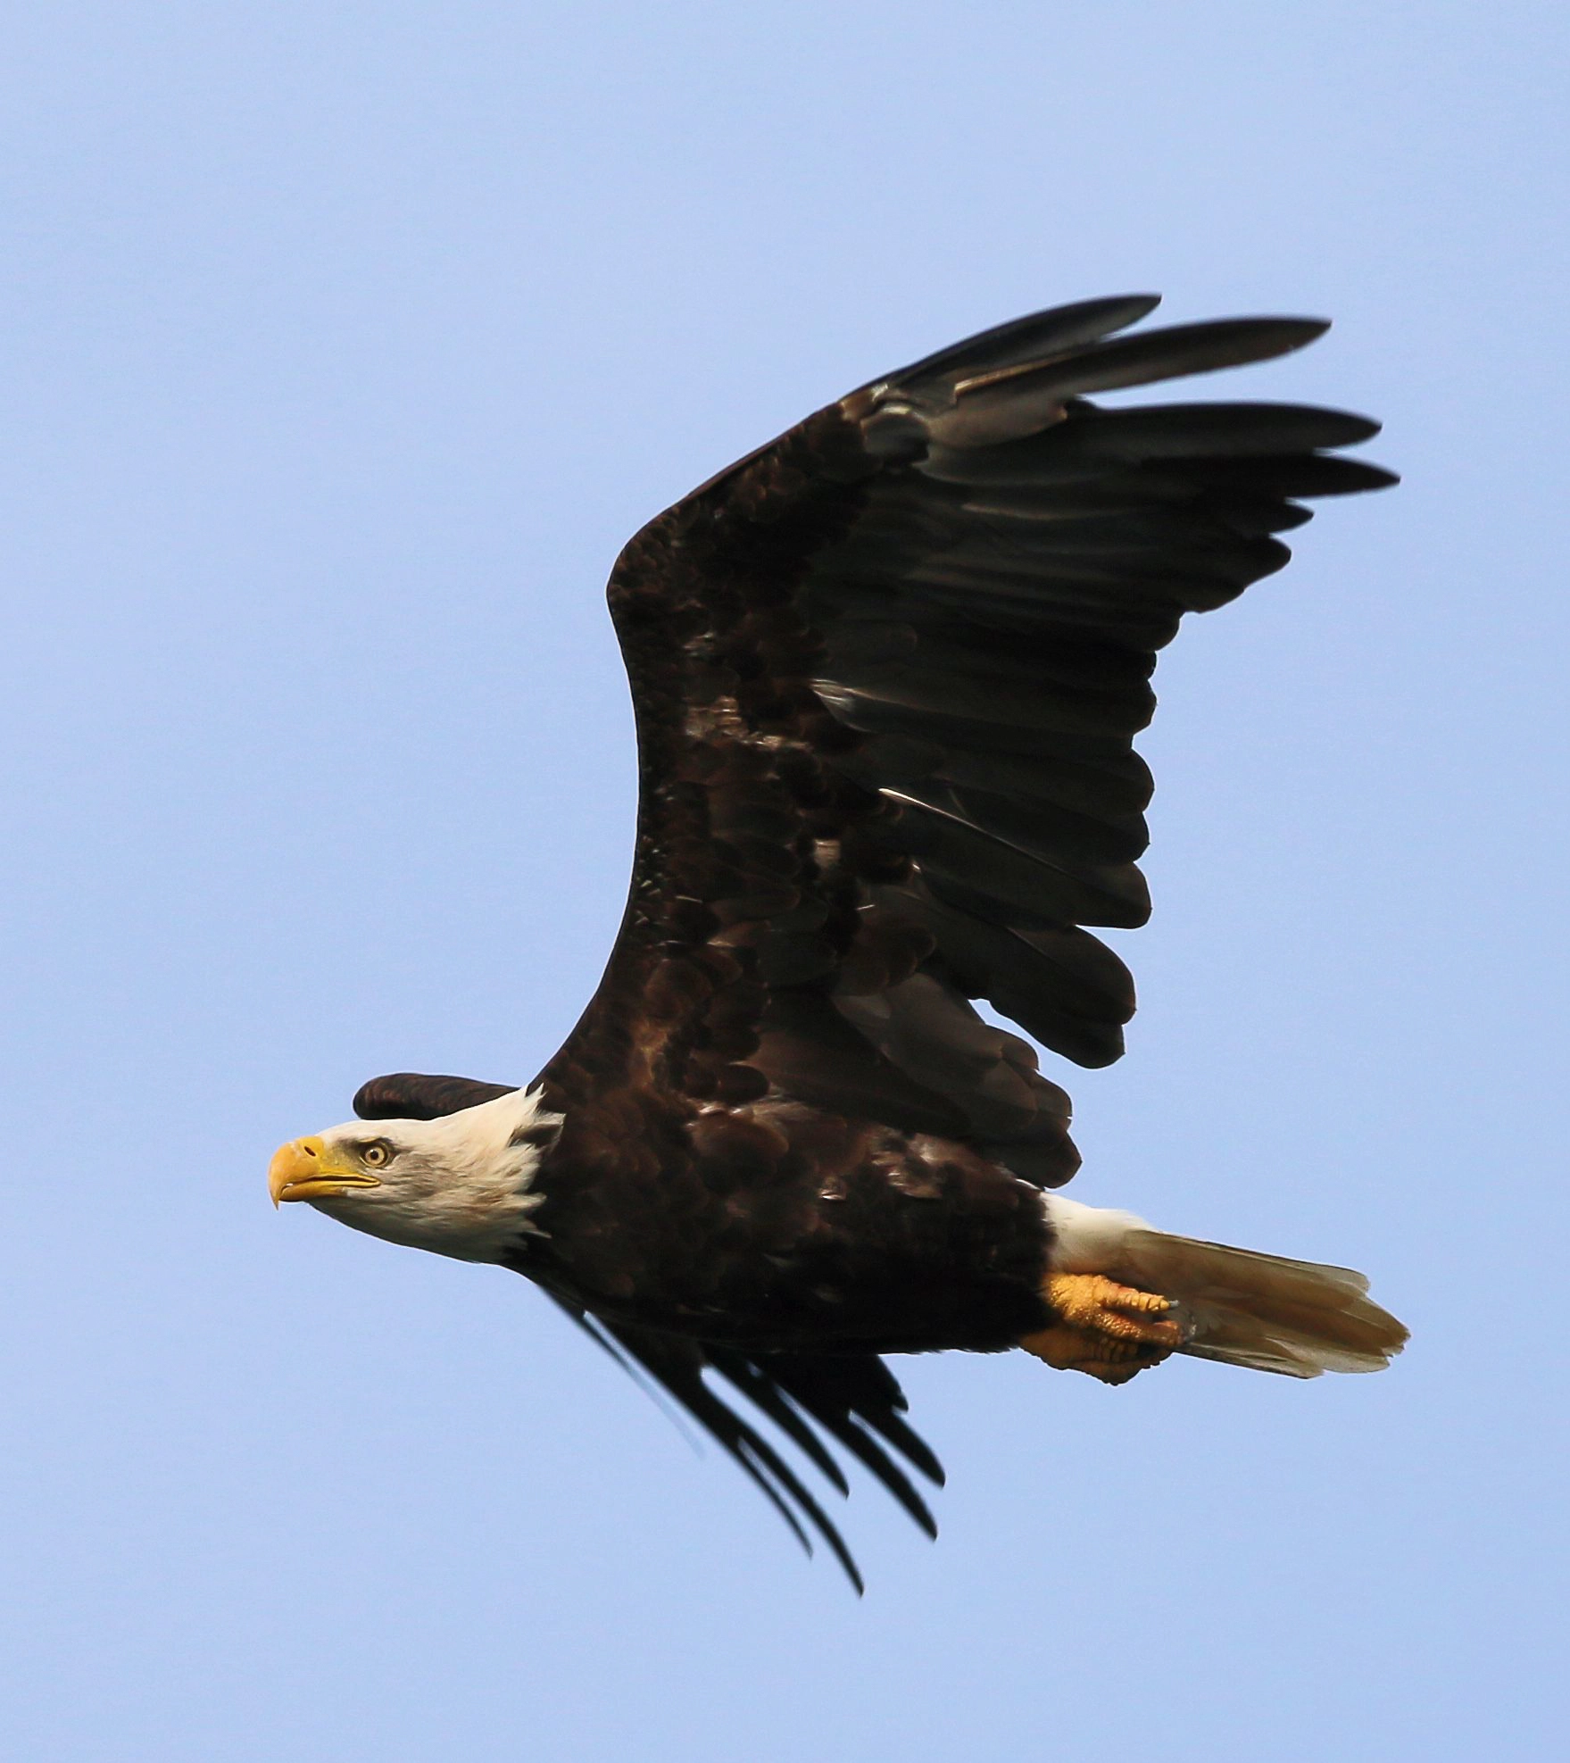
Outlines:
MULTIPOLYGON (((663 1135, 696 1111, 784 1095, 962 1139, 1040 1185, 1073 1174, 1068 1097, 973 1000, 1080 1065, 1121 1054, 1133 984, 1085 927, 1149 913, 1133 737, 1156 654, 1186 612, 1286 562, 1276 534, 1309 518, 1295 499, 1394 481, 1330 451, 1376 432, 1360 416, 1087 402, 1325 328, 1114 335, 1154 303, 1063 307, 929 356, 627 545, 610 605, 638 714, 638 853, 604 980, 544 1072, 578 1167, 641 1157, 657 1179, 663 1135)), ((460 1105, 381 1082, 370 1109, 460 1105)), ((567 1308, 848 1571, 816 1499, 705 1368, 835 1486, 812 1425, 930 1525, 885 1446, 937 1463, 870 1354, 738 1354, 567 1308)))

